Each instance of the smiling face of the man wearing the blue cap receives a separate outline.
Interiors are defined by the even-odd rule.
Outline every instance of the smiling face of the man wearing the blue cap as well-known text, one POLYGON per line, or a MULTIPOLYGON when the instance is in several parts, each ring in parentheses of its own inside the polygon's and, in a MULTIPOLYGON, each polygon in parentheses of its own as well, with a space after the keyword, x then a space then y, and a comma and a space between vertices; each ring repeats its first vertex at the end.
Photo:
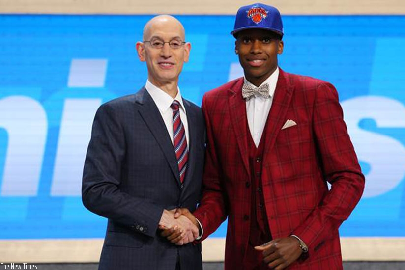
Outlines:
POLYGON ((259 86, 277 68, 277 55, 283 53, 280 36, 263 29, 246 29, 237 33, 235 52, 248 81, 259 86))

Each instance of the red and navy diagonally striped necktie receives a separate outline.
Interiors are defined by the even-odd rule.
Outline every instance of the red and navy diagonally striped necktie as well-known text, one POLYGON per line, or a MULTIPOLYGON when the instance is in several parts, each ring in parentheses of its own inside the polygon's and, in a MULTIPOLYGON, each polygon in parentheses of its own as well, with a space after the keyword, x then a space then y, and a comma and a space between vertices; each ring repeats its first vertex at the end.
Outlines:
POLYGON ((173 110, 173 146, 176 153, 178 171, 180 173, 180 182, 183 184, 188 164, 188 147, 186 132, 180 119, 180 103, 174 100, 170 106, 173 110))

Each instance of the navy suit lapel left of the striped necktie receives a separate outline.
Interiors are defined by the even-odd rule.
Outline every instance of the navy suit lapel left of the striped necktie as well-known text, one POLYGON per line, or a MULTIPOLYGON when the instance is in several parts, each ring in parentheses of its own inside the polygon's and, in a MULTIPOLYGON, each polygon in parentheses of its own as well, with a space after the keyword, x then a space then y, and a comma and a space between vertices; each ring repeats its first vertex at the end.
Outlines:
POLYGON ((135 95, 135 101, 142 106, 139 106, 139 113, 145 121, 152 135, 155 137, 157 143, 162 149, 163 154, 169 163, 170 168, 180 186, 180 176, 177 166, 177 158, 174 153, 173 144, 170 141, 170 136, 167 132, 165 123, 163 122, 162 115, 159 112, 152 97, 146 91, 145 87, 135 95))

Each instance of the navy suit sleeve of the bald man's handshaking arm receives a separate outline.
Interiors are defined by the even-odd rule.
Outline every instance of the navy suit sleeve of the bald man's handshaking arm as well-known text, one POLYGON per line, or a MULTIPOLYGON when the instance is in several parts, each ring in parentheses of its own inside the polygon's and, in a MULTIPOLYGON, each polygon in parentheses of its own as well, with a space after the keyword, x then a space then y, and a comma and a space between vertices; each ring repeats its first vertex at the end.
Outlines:
POLYGON ((163 208, 120 189, 125 167, 125 131, 116 109, 96 112, 83 171, 82 201, 91 212, 154 237, 163 208))

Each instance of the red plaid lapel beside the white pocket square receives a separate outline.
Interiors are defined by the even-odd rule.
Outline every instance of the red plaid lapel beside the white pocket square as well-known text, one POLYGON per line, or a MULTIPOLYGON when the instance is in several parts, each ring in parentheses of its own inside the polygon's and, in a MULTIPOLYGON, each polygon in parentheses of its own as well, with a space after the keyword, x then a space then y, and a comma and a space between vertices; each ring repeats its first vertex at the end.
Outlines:
POLYGON ((273 148, 276 137, 283 127, 293 90, 287 78, 287 74, 280 69, 273 102, 268 115, 269 119, 267 120, 268 126, 264 145, 264 156, 273 148))

